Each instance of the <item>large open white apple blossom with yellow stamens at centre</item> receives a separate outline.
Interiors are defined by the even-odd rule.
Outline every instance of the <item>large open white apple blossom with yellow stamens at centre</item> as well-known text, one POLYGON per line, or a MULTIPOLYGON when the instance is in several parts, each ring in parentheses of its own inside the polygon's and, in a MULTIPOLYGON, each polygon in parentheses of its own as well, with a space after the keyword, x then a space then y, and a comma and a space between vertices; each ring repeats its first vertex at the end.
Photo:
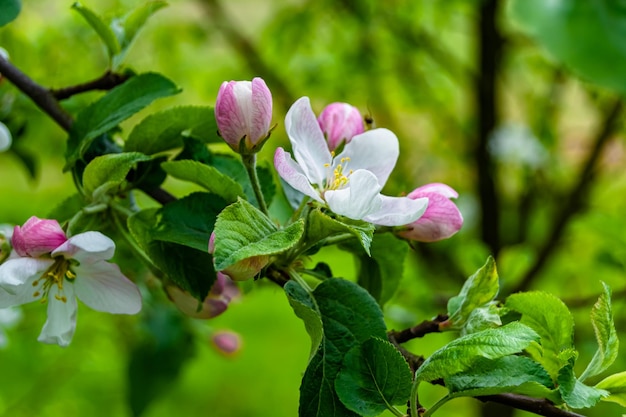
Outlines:
POLYGON ((326 204, 336 214, 383 226, 417 220, 427 198, 380 194, 399 156, 398 138, 390 130, 372 129, 352 138, 339 155, 328 149, 308 97, 287 112, 285 128, 294 159, 283 148, 274 154, 278 174, 291 187, 326 204))

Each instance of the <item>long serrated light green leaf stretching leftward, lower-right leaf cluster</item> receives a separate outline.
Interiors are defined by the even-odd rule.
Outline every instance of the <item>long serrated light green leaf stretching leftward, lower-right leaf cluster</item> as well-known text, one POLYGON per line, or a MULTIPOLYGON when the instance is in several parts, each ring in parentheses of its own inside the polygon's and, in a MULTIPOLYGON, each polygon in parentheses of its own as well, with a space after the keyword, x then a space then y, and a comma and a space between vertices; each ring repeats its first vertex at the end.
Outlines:
POLYGON ((474 366, 479 358, 498 359, 526 349, 539 340, 530 327, 512 322, 462 336, 433 353, 415 373, 415 379, 433 381, 447 378, 474 366))

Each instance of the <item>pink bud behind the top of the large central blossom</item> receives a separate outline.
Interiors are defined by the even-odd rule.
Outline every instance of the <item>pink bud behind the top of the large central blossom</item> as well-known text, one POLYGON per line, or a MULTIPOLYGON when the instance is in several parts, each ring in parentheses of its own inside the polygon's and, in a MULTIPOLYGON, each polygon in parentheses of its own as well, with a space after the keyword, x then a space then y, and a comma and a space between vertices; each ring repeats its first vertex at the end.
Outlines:
POLYGON ((353 136, 363 133, 363 117, 359 110, 348 103, 332 103, 326 106, 317 119, 326 135, 328 149, 334 151, 342 142, 350 142, 353 136))

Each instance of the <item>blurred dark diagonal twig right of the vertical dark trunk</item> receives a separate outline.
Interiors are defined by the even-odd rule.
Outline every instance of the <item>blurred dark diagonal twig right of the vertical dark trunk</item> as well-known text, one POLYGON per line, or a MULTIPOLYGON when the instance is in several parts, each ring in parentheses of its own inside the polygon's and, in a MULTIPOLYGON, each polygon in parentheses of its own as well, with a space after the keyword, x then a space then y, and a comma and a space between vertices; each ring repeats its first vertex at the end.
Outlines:
POLYGON ((541 250, 539 250, 535 263, 530 267, 528 272, 526 272, 512 292, 525 291, 530 287, 548 259, 550 259, 552 253, 558 247, 561 237, 572 217, 584 208, 584 197, 588 194, 593 182, 596 166, 602 155, 602 151, 616 129, 619 116, 622 113, 622 107, 622 99, 618 98, 613 102, 610 110, 606 113, 594 140, 593 148, 578 175, 578 181, 564 199, 559 212, 554 216, 550 235, 541 250))

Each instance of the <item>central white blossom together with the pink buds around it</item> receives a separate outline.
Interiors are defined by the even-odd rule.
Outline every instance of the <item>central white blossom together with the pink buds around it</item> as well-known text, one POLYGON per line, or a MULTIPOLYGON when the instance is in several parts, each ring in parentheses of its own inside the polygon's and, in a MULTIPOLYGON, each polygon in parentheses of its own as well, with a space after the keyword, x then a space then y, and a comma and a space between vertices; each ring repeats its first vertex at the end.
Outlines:
MULTIPOLYGON (((270 134, 271 109, 271 93, 260 78, 225 82, 215 106, 221 136, 236 152, 257 152, 270 134)), ((427 184, 405 197, 380 193, 399 157, 398 138, 388 129, 366 130, 354 106, 332 103, 316 118, 309 98, 302 97, 287 112, 285 129, 293 156, 278 148, 276 171, 331 212, 391 226, 397 236, 420 242, 447 239, 461 228, 463 217, 450 200, 458 193, 445 184, 427 184)), ((267 256, 255 257, 223 272, 245 280, 268 262, 267 256)))

